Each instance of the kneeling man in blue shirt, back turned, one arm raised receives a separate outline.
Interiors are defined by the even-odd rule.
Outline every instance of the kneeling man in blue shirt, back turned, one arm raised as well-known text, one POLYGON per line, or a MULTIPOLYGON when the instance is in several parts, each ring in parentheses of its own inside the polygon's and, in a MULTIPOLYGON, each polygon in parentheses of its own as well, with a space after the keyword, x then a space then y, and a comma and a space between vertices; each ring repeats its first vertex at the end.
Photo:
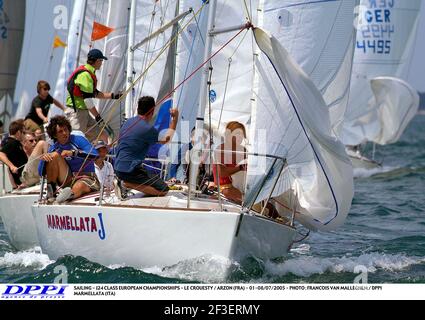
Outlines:
POLYGON ((165 196, 167 184, 158 175, 148 173, 143 161, 149 148, 156 144, 171 141, 177 126, 179 112, 170 109, 170 127, 163 139, 149 121, 155 110, 152 97, 142 97, 138 101, 138 116, 128 119, 121 128, 115 160, 115 173, 125 183, 125 187, 138 190, 149 196, 165 196))

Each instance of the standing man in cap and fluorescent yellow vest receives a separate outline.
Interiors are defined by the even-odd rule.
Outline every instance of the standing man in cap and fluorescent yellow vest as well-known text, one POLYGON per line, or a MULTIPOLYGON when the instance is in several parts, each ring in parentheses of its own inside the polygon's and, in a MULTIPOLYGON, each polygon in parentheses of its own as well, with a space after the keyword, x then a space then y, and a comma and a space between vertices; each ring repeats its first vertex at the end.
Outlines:
POLYGON ((102 67, 103 60, 108 58, 102 51, 90 50, 87 64, 78 67, 68 79, 65 115, 71 122, 72 129, 82 131, 89 141, 96 139, 102 128, 110 136, 113 135, 97 111, 93 99, 119 99, 122 96, 121 93, 100 92, 97 89, 96 70, 102 67), (96 121, 90 116, 89 111, 96 121))

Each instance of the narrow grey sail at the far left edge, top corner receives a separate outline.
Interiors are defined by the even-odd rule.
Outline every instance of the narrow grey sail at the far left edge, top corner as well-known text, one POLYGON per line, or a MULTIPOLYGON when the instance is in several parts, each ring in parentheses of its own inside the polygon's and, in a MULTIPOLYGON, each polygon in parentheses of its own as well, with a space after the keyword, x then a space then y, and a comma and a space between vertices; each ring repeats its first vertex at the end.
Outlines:
POLYGON ((0 120, 7 126, 24 38, 25 0, 0 1, 0 120))

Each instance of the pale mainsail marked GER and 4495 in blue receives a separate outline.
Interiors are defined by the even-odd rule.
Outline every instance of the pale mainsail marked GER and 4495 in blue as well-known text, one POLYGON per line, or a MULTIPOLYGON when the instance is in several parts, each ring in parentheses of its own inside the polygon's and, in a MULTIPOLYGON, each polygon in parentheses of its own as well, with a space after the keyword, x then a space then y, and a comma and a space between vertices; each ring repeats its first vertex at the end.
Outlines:
MULTIPOLYGON (((381 128, 386 122, 380 118, 383 112, 378 109, 384 105, 382 97, 375 97, 371 81, 376 77, 407 78, 421 3, 420 0, 398 0, 378 6, 375 1, 361 1, 350 101, 342 134, 345 144, 358 145, 368 140, 380 143, 384 140, 378 135, 383 130, 401 130, 400 127, 381 128)), ((397 114, 408 112, 411 102, 410 97, 398 99, 397 114)), ((403 119, 397 122, 406 124, 403 119)))

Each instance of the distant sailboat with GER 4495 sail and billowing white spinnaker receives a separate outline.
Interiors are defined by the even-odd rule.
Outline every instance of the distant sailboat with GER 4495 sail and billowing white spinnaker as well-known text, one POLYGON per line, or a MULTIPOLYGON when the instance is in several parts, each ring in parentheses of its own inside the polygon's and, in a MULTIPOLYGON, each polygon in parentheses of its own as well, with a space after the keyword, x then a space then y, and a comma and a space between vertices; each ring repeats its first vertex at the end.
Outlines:
POLYGON ((350 101, 341 133, 353 165, 380 163, 360 145, 395 143, 416 115, 419 95, 407 82, 421 1, 361 1, 350 101))

